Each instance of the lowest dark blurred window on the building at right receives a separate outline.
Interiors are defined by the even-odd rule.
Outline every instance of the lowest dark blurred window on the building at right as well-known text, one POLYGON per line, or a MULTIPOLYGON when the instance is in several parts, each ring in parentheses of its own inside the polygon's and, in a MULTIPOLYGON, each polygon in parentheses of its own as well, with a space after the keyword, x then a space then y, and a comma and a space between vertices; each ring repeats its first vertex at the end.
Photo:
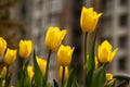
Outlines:
POLYGON ((127 59, 126 59, 126 57, 120 58, 118 60, 118 70, 126 71, 126 69, 127 69, 126 65, 127 65, 127 59))

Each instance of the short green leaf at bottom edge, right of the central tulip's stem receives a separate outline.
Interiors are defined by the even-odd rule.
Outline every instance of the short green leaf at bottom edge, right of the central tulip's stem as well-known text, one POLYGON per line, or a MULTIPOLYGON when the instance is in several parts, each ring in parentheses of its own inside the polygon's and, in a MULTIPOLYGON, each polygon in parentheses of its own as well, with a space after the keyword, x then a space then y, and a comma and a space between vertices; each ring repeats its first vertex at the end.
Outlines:
POLYGON ((67 83, 66 83, 66 87, 73 86, 74 77, 75 77, 75 69, 72 69, 69 76, 68 76, 68 79, 67 79, 67 83))

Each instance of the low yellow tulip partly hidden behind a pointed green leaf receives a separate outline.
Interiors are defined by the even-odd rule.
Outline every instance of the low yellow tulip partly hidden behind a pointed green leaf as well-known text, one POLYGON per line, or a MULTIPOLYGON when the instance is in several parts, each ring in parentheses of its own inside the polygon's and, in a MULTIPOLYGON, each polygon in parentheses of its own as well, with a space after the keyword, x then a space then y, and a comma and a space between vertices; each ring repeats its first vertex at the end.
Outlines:
POLYGON ((36 59, 37 59, 38 65, 41 70, 42 74, 46 75, 47 61, 39 57, 36 57, 36 59))

